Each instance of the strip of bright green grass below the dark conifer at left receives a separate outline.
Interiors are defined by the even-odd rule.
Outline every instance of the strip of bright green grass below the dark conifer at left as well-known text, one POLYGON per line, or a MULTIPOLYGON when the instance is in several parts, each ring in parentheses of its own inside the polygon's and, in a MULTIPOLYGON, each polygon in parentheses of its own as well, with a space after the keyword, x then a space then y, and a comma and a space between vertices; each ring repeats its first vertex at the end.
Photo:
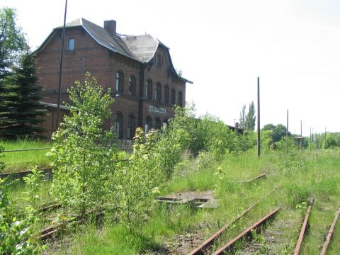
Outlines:
MULTIPOLYGON (((52 143, 40 140, 0 140, 0 146, 4 147, 5 150, 33 149, 52 147, 52 143)), ((47 152, 48 149, 26 152, 4 152, 4 158, 1 159, 1 162, 5 163, 4 172, 25 171, 33 166, 39 166, 40 168, 50 167, 50 160, 46 157, 47 152)))

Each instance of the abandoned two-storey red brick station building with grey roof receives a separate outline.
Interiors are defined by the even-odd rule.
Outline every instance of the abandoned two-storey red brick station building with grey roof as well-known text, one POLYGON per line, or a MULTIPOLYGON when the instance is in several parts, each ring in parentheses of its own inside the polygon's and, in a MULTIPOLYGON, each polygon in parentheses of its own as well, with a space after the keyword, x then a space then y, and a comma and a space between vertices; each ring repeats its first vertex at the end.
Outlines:
MULTIPOLYGON (((44 103, 55 106, 59 83, 62 27, 55 28, 35 50, 44 103)), ((160 128, 174 115, 172 106, 184 106, 186 83, 171 62, 169 48, 152 35, 119 35, 116 22, 103 28, 84 18, 67 23, 62 64, 61 102, 68 101, 67 88, 90 72, 115 96, 113 126, 119 139, 132 139, 136 127, 160 128)), ((47 136, 55 130, 50 111, 44 127, 47 136)))

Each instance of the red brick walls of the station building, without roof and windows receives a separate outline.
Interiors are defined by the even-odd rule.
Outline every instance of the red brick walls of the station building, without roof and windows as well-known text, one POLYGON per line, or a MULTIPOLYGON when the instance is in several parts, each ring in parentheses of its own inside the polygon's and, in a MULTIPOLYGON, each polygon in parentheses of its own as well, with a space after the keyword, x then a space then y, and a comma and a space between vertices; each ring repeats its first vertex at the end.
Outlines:
MULTIPOLYGON (((55 29, 35 52, 39 83, 45 87, 42 101, 46 103, 57 103, 61 45, 62 29, 55 29)), ((182 104, 183 106, 185 103, 186 80, 171 72, 174 67, 172 67, 169 49, 162 44, 157 46, 151 62, 140 62, 103 47, 93 36, 89 35, 86 29, 82 26, 75 26, 66 29, 64 45, 66 46, 62 64, 62 101, 68 101, 67 88, 72 86, 74 81, 83 80, 85 72, 90 72, 104 88, 110 87, 114 91, 115 103, 113 103, 112 116, 107 125, 109 128, 119 123, 115 128, 120 130, 118 134, 120 139, 131 139, 134 133, 129 130, 131 128, 135 130, 138 126, 145 128, 147 118, 152 120, 151 128, 156 128, 156 122, 159 120, 161 125, 169 120, 174 114, 171 105, 171 90, 176 91, 176 105, 182 104), (67 51, 70 38, 74 39, 73 52, 67 51), (159 57, 160 59, 156 60, 159 57), (123 74, 123 91, 116 91, 117 72, 123 74), (130 77, 135 78, 135 95, 129 93, 130 77), (147 98, 146 94, 148 80, 152 81, 152 99, 147 98), (157 90, 157 83, 160 84, 160 90, 157 90), (166 103, 164 98, 165 86, 169 87, 169 103, 166 103), (161 96, 157 98, 159 91, 161 96), (179 102, 180 94, 182 94, 181 102, 179 102), (152 107, 149 108, 149 106, 152 107), (117 116, 119 120, 115 119, 117 116), (135 119, 134 125, 131 121, 132 117, 135 119), (132 135, 129 135, 129 132, 132 135)), ((48 130, 46 135, 50 135, 53 131, 50 128, 51 121, 50 119, 48 121, 49 127, 45 126, 48 130)))

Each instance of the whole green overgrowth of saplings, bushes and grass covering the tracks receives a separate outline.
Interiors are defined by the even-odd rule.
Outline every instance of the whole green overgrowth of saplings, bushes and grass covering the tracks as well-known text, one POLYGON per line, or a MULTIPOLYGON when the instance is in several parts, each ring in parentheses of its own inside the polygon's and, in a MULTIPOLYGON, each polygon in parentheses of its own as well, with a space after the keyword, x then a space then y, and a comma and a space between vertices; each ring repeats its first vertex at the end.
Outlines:
MULTIPOLYGON (((7 222, 5 240, 26 244, 27 237, 23 239, 20 232, 15 232, 15 240, 11 235, 11 219, 18 217, 30 230, 28 241, 38 247, 36 251, 45 248, 37 238, 43 227, 55 224, 60 229, 47 245, 49 254, 187 254, 276 187, 274 193, 234 222, 212 251, 278 205, 282 209, 276 218, 293 215, 296 222, 302 222, 311 196, 320 201, 312 214, 321 215, 322 208, 339 206, 339 150, 301 151, 290 139, 277 142, 273 149, 267 131, 262 134, 261 157, 257 157, 254 133, 237 134, 209 115, 193 118, 191 108, 176 108, 175 118, 162 130, 144 134, 137 129, 130 161, 118 162, 121 152, 110 144, 112 133, 102 130, 103 116, 111 114, 103 107, 111 104, 110 91, 105 94, 97 85, 86 74, 86 89, 78 83, 71 91, 72 115, 54 135, 50 151, 55 168, 52 183, 42 182, 37 170, 27 176, 25 186, 3 186, 6 192, 1 193, 1 199, 6 207, 0 208, 0 213, 7 222), (248 182, 263 173, 265 179, 248 182), (220 200, 219 207, 198 209, 154 200, 184 191, 212 191, 220 200), (60 207, 40 213, 39 207, 51 200, 60 207), (69 219, 79 215, 89 218, 89 210, 105 210, 103 222, 96 225, 90 217, 86 225, 72 231, 69 219), (27 212, 36 220, 25 221, 27 212)), ((312 217, 310 225, 330 225, 326 220, 318 221, 320 217, 312 217)), ((339 239, 338 231, 334 240, 339 239)), ((280 254, 293 251, 298 232, 299 225, 295 224, 283 233, 280 254)), ((322 237, 310 238, 315 241, 304 243, 302 250, 316 254, 322 237)), ((336 244, 332 245, 331 250, 339 253, 336 244)), ((244 243, 238 242, 236 247, 242 246, 244 243)))

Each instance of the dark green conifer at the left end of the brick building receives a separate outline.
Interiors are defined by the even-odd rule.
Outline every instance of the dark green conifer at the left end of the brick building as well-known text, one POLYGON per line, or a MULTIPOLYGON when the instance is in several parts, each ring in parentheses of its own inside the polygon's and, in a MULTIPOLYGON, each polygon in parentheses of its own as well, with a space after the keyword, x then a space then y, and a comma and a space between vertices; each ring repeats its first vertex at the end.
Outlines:
POLYGON ((13 139, 43 131, 37 126, 45 111, 39 103, 42 86, 37 84, 36 72, 34 57, 26 53, 20 65, 5 77, 0 94, 0 137, 13 139))

